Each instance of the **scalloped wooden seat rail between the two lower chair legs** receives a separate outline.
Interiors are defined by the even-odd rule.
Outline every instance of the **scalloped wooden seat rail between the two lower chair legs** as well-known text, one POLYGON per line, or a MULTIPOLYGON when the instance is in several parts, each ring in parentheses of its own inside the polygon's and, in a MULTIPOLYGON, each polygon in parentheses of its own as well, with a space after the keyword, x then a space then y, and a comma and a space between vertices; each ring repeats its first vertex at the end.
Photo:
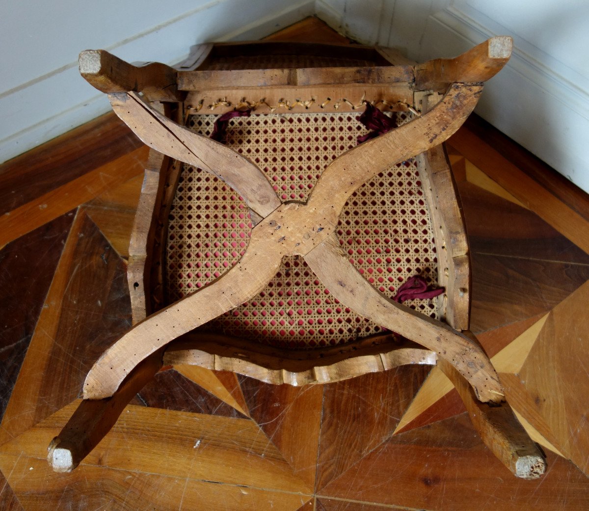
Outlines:
POLYGON ((163 363, 198 365, 237 372, 274 385, 286 383, 300 387, 347 380, 400 365, 435 365, 436 359, 434 352, 412 342, 399 344, 392 335, 369 337, 336 347, 289 351, 195 332, 168 346, 163 363))

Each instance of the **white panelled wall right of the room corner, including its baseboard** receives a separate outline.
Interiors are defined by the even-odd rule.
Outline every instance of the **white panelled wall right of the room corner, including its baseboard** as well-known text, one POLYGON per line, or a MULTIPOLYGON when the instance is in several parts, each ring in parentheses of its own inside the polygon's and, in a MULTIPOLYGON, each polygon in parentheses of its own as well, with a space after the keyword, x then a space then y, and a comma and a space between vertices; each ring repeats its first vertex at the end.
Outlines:
POLYGON ((511 35, 514 54, 475 111, 589 192, 587 0, 317 0, 317 12, 418 61, 511 35))

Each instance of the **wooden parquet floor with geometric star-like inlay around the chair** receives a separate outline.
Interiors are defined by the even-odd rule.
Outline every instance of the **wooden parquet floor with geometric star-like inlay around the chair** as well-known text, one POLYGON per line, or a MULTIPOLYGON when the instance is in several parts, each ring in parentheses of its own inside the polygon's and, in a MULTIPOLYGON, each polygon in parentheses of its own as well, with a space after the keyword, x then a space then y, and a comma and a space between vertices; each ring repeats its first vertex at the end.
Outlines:
POLYGON ((131 324, 147 150, 108 114, 0 166, 0 509, 589 509, 589 197, 480 120, 448 151, 471 326, 546 453, 542 479, 512 476, 427 367, 303 388, 170 368, 53 473, 49 441, 131 324))

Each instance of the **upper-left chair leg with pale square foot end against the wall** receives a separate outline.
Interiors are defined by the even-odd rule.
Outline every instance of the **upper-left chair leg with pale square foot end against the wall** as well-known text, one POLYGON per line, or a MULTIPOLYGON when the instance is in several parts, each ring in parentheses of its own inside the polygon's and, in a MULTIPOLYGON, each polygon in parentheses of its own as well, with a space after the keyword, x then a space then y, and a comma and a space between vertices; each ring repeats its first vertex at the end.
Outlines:
POLYGON ((135 66, 105 50, 85 50, 78 58, 80 74, 103 93, 143 92, 150 100, 182 101, 177 71, 160 62, 135 66))

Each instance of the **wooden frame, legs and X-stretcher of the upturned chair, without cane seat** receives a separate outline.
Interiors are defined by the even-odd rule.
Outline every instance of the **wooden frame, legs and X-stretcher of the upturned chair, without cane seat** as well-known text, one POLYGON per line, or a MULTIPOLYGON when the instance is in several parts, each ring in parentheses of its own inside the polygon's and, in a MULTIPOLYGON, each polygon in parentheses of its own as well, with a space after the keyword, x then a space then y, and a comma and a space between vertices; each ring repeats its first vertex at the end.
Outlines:
MULTIPOLYGON (((134 327, 88 373, 84 401, 49 446, 48 460, 54 470, 68 472, 77 466, 163 365, 196 364, 270 383, 302 385, 408 363, 437 363, 458 388, 475 427, 496 456, 518 477, 540 476, 544 459, 505 403, 497 372, 468 331, 468 243, 441 146, 476 106, 483 82, 507 62, 511 44, 507 37, 492 38, 458 58, 421 65, 408 64, 387 48, 347 47, 348 54, 359 59, 376 52, 385 64, 256 70, 209 70, 203 65, 214 52, 231 55, 235 48, 240 54, 286 55, 300 47, 289 43, 201 45, 178 70, 163 64, 130 65, 105 51, 82 52, 81 74, 109 95, 115 113, 152 151, 130 247, 134 327), (386 97, 389 104, 396 101, 399 110, 418 108, 421 115, 337 157, 306 202, 282 203, 256 164, 176 122, 206 97, 231 95, 234 99, 226 101, 229 109, 238 103, 237 97, 262 89, 264 101, 256 105, 256 112, 264 113, 284 103, 285 96, 346 97, 352 90, 357 92, 359 85, 367 97, 386 97), (416 155, 438 226, 438 263, 446 270, 439 275, 445 288, 445 321, 419 314, 380 293, 350 264, 335 235, 340 212, 358 187, 416 155), (178 179, 170 158, 209 172, 236 190, 250 209, 254 227, 236 265, 193 294, 157 309, 150 301, 150 290, 158 283, 153 269, 161 272, 158 258, 163 248, 156 245, 161 246, 163 218, 178 179), (360 339, 337 349, 293 354, 193 332, 261 291, 287 255, 302 256, 350 309, 413 342, 393 346, 386 339, 360 339)), ((339 51, 342 48, 329 45, 316 45, 313 50, 319 55, 339 51)), ((289 106, 295 111, 309 107, 323 108, 301 101, 289 106)))

